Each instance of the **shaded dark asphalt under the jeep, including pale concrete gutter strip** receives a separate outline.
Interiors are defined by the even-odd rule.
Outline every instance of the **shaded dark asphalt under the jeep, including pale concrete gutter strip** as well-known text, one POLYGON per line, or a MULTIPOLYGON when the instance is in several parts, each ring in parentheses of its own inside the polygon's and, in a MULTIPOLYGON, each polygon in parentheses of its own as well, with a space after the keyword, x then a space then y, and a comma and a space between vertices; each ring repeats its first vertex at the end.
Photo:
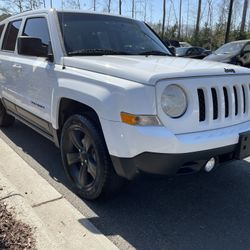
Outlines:
POLYGON ((211 173, 141 175, 113 199, 86 202, 71 191, 52 142, 19 122, 0 137, 120 249, 250 247, 247 161, 211 173))

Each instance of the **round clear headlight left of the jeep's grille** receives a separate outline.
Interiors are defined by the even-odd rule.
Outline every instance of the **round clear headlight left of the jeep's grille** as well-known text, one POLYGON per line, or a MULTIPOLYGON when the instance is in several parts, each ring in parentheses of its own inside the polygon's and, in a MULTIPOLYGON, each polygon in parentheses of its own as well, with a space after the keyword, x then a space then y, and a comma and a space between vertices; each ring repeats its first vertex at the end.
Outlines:
POLYGON ((187 110, 187 97, 184 90, 175 84, 167 86, 161 96, 161 107, 172 118, 182 116, 187 110))

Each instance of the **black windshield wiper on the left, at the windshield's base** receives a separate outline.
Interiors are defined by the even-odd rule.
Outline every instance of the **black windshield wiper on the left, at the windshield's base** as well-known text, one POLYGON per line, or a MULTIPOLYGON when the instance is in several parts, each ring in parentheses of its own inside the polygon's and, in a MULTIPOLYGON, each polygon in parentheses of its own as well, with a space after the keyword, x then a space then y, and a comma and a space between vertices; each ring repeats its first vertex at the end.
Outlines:
POLYGON ((69 56, 103 56, 103 55, 131 55, 124 51, 112 49, 80 49, 68 52, 69 56))

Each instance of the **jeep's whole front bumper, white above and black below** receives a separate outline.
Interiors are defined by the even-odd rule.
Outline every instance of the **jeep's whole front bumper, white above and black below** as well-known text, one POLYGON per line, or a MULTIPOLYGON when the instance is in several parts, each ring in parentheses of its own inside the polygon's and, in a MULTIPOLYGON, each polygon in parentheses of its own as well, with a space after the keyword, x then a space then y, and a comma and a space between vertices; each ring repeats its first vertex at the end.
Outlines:
POLYGON ((135 127, 101 121, 116 172, 128 179, 138 170, 175 174, 180 168, 204 166, 211 157, 235 158, 239 135, 250 130, 250 121, 230 127, 175 135, 165 127, 135 127))

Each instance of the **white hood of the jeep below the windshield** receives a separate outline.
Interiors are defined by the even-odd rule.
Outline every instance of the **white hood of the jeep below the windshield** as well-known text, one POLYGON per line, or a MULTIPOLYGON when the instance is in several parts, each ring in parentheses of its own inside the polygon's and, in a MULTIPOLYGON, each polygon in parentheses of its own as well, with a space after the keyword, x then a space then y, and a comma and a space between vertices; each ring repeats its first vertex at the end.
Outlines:
POLYGON ((110 75, 142 84, 154 85, 170 78, 250 74, 250 70, 234 65, 172 56, 75 56, 64 57, 64 66, 110 75), (234 69, 226 73, 225 68, 234 69))

